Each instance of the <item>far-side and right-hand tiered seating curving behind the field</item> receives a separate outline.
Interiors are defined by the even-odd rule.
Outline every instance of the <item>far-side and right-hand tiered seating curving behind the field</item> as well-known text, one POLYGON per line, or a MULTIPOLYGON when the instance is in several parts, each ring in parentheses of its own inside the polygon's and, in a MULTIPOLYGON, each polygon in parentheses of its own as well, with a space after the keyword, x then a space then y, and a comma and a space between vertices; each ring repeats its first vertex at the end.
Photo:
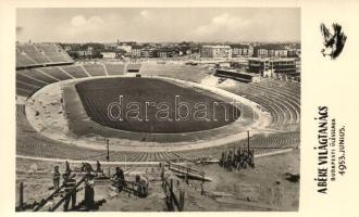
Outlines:
MULTIPOLYGON (((127 65, 128 67, 128 65, 127 65)), ((123 75, 124 64, 84 64, 70 66, 52 66, 16 72, 16 91, 28 97, 33 91, 59 80, 89 76, 123 75), (26 84, 26 85, 25 85, 26 84), (17 90, 18 89, 18 90, 17 90)), ((141 74, 189 79, 199 82, 207 76, 206 72, 194 66, 175 66, 146 64, 141 74)), ((285 129, 286 125, 295 125, 300 120, 300 86, 295 82, 262 79, 260 84, 237 82, 223 89, 252 100, 268 110, 272 116, 272 126, 285 129)))

